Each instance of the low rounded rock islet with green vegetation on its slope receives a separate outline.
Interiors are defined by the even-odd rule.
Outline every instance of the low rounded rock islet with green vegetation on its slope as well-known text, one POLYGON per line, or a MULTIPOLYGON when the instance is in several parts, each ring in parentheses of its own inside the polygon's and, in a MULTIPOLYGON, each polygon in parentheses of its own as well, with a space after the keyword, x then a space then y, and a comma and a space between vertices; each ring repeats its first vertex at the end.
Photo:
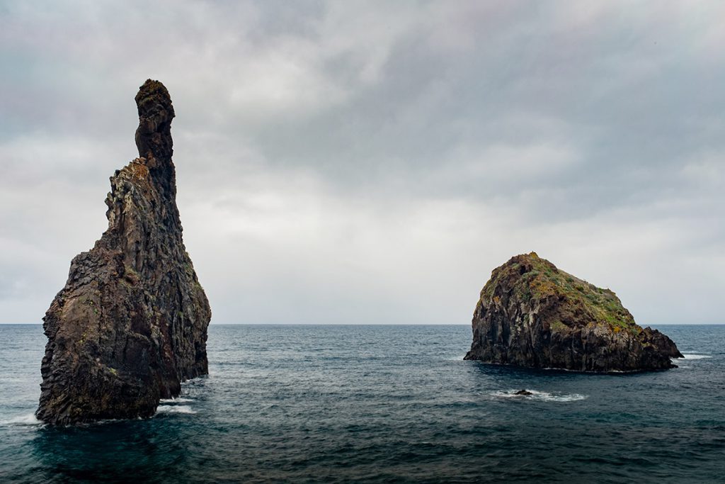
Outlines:
POLYGON ((675 368, 675 343, 637 326, 614 292, 556 268, 536 253, 516 255, 481 291, 466 360, 578 372, 675 368))

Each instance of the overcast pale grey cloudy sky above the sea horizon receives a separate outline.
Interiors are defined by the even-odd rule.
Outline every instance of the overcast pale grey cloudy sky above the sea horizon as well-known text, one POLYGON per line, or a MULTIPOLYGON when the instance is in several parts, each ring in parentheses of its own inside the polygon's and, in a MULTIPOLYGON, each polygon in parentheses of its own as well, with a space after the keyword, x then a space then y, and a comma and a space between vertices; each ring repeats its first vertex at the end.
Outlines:
POLYGON ((0 323, 107 227, 162 81, 212 324, 469 324, 536 251, 725 323, 719 1, 0 0, 0 323))

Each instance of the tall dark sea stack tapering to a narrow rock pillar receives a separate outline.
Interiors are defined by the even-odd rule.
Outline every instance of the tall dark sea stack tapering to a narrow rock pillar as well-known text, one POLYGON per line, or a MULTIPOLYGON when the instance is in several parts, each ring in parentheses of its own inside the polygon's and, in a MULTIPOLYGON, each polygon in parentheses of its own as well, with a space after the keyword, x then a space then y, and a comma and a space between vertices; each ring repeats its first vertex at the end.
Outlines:
POLYGON ((159 81, 136 94, 139 157, 111 177, 108 229, 70 263, 43 318, 36 416, 50 424, 151 417, 208 373, 211 311, 181 237, 174 108, 159 81))

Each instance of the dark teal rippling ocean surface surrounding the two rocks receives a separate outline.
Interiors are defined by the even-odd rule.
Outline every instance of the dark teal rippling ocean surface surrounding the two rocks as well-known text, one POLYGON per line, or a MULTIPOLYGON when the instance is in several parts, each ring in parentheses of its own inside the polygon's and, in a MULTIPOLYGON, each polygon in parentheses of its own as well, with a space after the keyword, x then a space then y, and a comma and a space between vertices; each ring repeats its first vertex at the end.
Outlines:
POLYGON ((0 482, 725 482, 725 326, 659 329, 678 369, 593 375, 462 361, 467 325, 212 325, 152 419, 52 428, 41 326, 0 325, 0 482))

